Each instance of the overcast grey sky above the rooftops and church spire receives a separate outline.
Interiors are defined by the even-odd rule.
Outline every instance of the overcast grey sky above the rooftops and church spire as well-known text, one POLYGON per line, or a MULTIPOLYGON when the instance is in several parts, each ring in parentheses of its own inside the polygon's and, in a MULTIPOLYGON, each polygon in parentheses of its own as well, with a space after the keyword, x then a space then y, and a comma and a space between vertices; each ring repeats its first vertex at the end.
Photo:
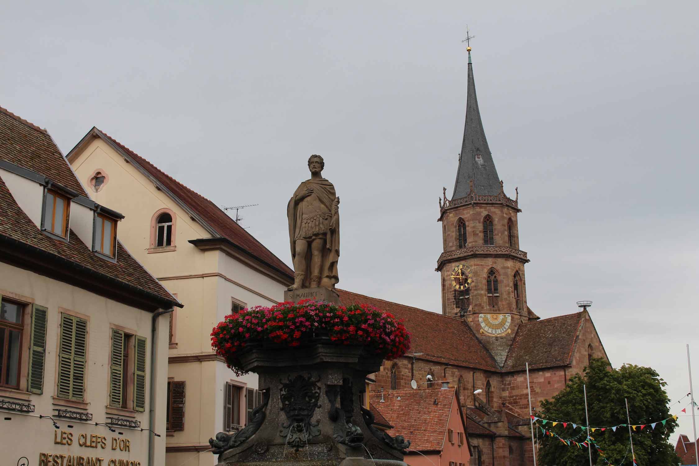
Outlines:
MULTIPOLYGON (((342 199, 339 286, 435 312, 437 198, 461 148, 468 24, 493 159, 505 192, 519 187, 528 304, 549 317, 593 300, 614 366, 656 368, 672 400, 689 392, 696 1, 2 10, 0 105, 64 153, 94 125, 219 205, 259 203, 242 224, 289 264, 286 203, 322 154, 342 199)), ((680 419, 673 439, 691 437, 680 419)))

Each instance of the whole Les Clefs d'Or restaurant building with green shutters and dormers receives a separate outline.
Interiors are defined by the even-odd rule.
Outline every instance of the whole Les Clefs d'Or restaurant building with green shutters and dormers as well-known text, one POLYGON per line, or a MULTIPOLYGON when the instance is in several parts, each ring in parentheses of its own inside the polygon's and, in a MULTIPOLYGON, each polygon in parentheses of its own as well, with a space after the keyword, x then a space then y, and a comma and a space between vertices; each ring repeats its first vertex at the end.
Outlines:
POLYGON ((0 463, 164 463, 180 303, 122 245, 122 219, 0 108, 0 463))

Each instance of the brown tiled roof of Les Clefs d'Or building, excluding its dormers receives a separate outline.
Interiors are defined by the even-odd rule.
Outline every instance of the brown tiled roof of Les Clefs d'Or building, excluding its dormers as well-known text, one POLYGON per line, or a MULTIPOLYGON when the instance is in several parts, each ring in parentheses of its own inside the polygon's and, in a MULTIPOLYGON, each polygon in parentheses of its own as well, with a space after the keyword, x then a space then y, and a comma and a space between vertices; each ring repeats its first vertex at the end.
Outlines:
MULTIPOLYGON (((50 180, 85 194, 68 162, 43 129, 23 119, 0 111, 0 153, 3 159, 15 165, 38 171, 50 180), (7 150, 14 146, 17 150, 7 150), (20 154, 23 150, 27 153, 20 154)), ((163 286, 117 242, 117 261, 112 262, 94 254, 72 230, 69 241, 51 238, 41 233, 36 224, 15 202, 4 180, 0 177, 0 235, 24 243, 62 259, 66 259, 97 274, 117 279, 123 284, 144 290, 176 303, 163 286)))

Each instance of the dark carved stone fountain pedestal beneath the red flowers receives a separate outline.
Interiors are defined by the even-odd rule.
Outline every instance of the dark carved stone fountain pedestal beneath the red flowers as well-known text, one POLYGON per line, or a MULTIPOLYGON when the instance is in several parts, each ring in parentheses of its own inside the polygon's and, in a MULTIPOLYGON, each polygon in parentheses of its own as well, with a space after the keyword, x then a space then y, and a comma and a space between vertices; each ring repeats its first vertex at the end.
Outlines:
POLYGON ((218 466, 406 466, 410 442, 377 430, 364 405, 382 357, 318 337, 293 349, 250 344, 240 360, 259 374, 263 402, 238 434, 210 441, 218 466))

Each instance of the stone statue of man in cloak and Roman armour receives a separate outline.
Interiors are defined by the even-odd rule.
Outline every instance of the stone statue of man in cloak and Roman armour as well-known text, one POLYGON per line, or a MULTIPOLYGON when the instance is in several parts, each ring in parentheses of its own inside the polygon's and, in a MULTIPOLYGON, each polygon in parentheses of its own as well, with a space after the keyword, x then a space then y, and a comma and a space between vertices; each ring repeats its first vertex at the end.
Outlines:
POLYGON ((335 289, 340 257, 340 198, 335 187, 321 177, 323 157, 308 158, 310 180, 301 183, 287 205, 294 285, 289 290, 335 289))

